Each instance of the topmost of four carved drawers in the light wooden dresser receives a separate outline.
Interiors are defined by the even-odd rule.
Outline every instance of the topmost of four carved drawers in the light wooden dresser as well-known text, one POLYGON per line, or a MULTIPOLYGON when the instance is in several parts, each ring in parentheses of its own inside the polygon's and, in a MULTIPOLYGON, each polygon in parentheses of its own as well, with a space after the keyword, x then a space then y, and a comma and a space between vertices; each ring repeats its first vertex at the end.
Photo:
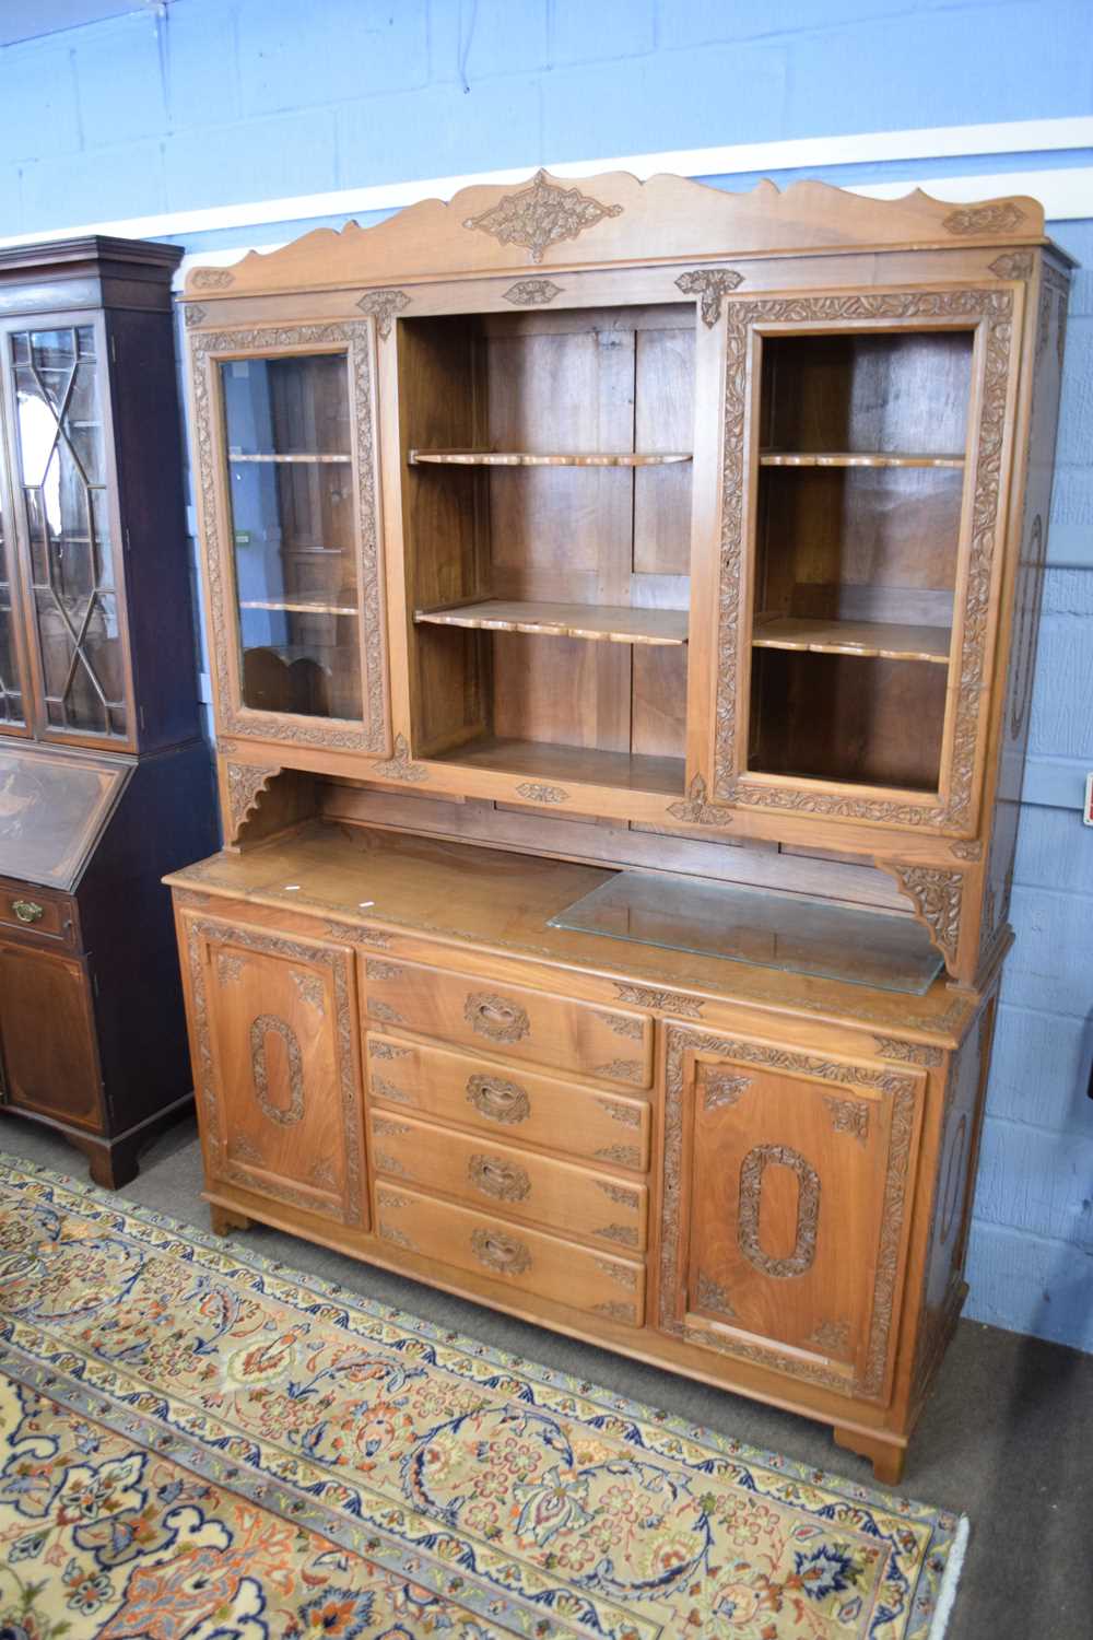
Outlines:
POLYGON ((401 1025, 631 1087, 652 1081, 652 1020, 644 1014, 374 956, 364 981, 369 1025, 401 1025))

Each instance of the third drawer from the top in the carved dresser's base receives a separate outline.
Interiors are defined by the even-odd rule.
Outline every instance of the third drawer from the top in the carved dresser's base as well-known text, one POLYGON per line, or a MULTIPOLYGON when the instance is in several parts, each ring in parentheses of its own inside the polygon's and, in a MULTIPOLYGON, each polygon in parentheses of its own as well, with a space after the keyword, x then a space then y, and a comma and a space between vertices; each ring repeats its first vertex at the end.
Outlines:
POLYGON ((374 1110, 372 1166, 405 1184, 441 1191, 472 1207, 524 1219, 562 1235, 633 1253, 646 1246, 649 1192, 644 1184, 623 1184, 534 1151, 374 1110))

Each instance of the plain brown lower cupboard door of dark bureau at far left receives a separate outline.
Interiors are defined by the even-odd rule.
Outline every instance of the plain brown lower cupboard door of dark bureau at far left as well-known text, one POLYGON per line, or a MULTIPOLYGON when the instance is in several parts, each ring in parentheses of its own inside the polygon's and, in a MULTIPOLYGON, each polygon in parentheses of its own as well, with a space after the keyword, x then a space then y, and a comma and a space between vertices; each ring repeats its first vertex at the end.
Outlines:
POLYGON ((7 1100, 100 1132, 102 1079, 84 964, 0 943, 7 1100))

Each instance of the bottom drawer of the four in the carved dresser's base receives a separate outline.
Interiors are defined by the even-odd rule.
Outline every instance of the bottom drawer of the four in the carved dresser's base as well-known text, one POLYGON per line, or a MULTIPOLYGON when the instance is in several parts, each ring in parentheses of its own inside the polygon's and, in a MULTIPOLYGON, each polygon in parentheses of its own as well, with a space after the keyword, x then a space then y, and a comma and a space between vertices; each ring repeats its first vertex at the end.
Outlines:
POLYGON ((503 1281, 587 1315, 641 1327, 646 1266, 593 1253, 490 1214, 438 1202, 385 1181, 375 1186, 375 1227, 382 1241, 434 1258, 470 1276, 503 1281))

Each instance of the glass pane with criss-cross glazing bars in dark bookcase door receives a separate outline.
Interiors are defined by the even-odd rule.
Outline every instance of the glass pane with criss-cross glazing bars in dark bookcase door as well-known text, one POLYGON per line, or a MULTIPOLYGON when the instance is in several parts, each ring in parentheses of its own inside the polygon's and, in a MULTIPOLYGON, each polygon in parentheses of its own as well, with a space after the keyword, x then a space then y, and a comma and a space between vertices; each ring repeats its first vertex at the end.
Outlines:
POLYGON ((126 733, 100 359, 92 325, 11 336, 46 723, 126 733))

